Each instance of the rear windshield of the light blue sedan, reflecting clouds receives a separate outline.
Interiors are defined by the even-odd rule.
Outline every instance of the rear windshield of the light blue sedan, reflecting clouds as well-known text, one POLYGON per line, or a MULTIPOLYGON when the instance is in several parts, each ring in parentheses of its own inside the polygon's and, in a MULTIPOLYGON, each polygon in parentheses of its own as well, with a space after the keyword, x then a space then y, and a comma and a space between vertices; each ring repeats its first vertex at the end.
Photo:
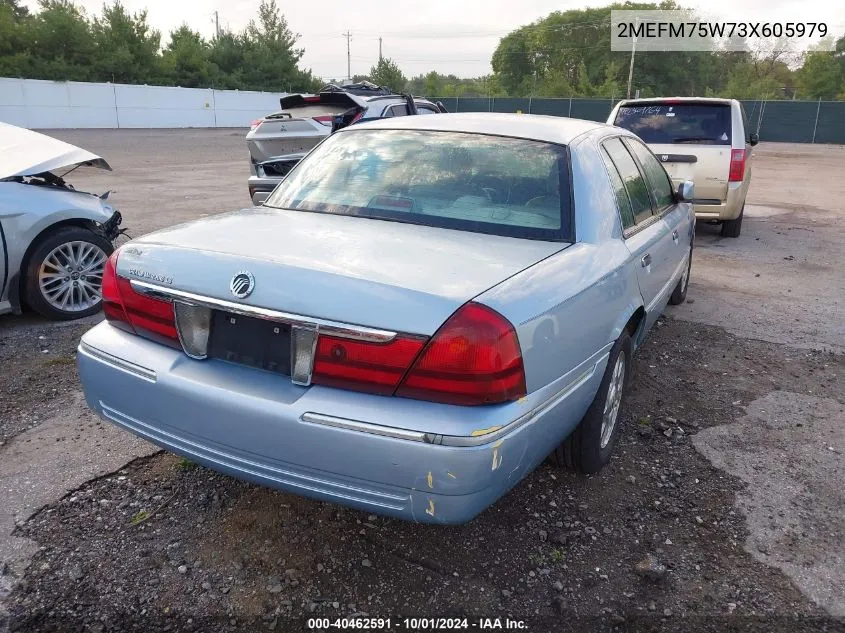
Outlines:
POLYGON ((337 133, 265 204, 529 239, 571 234, 566 148, 483 134, 337 133))

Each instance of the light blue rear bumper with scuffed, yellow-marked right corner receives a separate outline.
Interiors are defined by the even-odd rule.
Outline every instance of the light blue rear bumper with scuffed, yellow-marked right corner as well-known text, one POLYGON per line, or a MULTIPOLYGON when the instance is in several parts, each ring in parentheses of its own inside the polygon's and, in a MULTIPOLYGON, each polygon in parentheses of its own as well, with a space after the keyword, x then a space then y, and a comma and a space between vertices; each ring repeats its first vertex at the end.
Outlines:
POLYGON ((464 523, 530 472, 580 420, 605 362, 606 354, 590 375, 496 441, 444 446, 303 417, 337 415, 348 399, 350 417, 360 420, 366 407, 353 404, 366 401, 380 409, 370 419, 390 408, 394 428, 415 429, 427 414, 447 410, 457 418, 473 408, 297 387, 267 372, 192 361, 108 323, 85 334, 78 354, 88 405, 136 435, 235 477, 423 523, 464 523))

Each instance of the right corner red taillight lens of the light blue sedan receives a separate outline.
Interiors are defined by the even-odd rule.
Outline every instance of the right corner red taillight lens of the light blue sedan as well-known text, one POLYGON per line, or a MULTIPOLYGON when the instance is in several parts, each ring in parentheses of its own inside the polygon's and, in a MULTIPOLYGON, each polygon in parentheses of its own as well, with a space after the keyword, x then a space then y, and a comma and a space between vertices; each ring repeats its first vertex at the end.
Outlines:
POLYGON ((525 372, 513 326, 498 312, 467 303, 428 342, 397 396, 479 405, 525 395, 525 372))

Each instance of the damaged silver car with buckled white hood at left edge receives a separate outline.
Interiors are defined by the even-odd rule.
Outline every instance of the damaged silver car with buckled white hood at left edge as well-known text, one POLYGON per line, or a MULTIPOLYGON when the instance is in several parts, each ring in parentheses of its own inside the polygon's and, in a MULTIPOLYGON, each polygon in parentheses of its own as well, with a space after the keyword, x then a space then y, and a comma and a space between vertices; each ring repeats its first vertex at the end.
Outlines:
POLYGON ((100 156, 0 123, 0 314, 24 305, 51 319, 98 312, 103 269, 121 216, 106 196, 64 180, 78 167, 111 171, 100 156))

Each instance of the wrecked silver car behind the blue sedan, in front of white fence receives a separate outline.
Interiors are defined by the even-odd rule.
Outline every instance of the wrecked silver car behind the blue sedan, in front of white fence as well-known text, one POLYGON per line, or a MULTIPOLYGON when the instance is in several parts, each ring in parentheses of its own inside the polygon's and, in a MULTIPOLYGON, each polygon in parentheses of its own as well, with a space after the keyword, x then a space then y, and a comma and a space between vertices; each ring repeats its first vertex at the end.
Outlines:
POLYGON ((368 82, 325 86, 318 94, 291 94, 281 111, 254 121, 246 135, 250 157, 249 197, 266 200, 293 166, 339 127, 409 114, 438 114, 442 105, 396 94, 368 82))

